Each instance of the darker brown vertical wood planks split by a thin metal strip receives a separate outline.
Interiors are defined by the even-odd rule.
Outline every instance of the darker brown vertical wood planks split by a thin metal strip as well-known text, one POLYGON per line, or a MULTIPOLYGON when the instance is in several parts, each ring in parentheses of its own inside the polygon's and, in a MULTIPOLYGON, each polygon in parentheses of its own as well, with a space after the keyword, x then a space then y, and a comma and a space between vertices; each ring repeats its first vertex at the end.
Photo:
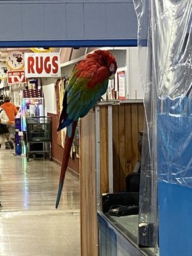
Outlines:
MULTIPOLYGON (((143 103, 113 106, 113 189, 125 190, 125 179, 132 172, 138 152, 139 131, 143 131, 143 103)), ((100 106, 100 191, 109 192, 108 106, 100 106)))

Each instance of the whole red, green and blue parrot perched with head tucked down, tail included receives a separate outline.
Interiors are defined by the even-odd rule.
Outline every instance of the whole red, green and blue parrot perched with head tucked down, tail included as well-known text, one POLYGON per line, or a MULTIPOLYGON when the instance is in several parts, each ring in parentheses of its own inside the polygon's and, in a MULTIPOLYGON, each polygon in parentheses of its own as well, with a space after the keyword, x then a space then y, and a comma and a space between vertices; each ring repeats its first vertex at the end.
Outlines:
POLYGON ((65 93, 57 131, 67 127, 56 209, 60 204, 61 191, 68 166, 70 149, 76 132, 77 121, 83 118, 106 93, 109 79, 114 79, 116 59, 111 52, 96 50, 87 54, 72 70, 65 93))

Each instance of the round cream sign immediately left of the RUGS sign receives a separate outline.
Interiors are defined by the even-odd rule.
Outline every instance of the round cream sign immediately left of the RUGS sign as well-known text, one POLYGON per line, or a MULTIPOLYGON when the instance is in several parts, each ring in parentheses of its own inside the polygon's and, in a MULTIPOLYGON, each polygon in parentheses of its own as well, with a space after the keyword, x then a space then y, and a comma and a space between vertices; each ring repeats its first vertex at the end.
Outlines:
POLYGON ((11 70, 22 70, 24 68, 24 54, 20 51, 9 52, 6 56, 6 65, 11 70))

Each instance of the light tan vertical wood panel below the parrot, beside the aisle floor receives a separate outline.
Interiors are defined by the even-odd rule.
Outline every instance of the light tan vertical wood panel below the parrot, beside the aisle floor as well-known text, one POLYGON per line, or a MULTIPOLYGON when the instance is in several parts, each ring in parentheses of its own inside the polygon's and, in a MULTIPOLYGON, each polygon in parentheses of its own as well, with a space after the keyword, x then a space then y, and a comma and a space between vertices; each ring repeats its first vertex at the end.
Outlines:
POLYGON ((98 255, 95 180, 95 113, 81 121, 81 255, 98 255))

